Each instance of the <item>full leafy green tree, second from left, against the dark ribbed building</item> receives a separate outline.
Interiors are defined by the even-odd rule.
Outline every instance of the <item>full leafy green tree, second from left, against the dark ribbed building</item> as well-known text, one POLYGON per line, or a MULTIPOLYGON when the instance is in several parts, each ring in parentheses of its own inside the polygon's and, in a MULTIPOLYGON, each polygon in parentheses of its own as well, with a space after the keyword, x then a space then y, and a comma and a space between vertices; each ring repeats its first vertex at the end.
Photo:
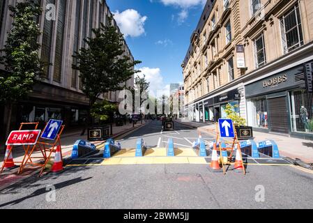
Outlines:
MULTIPOLYGON (((112 24, 112 17, 109 17, 109 24, 112 24)), ((102 93, 124 89, 121 83, 139 72, 134 70, 134 66, 141 63, 123 56, 123 34, 115 26, 101 23, 98 29, 92 31, 93 37, 84 39, 86 48, 79 49, 73 55, 76 64, 72 65, 72 68, 79 70, 82 91, 89 98, 89 109, 102 93)), ((89 124, 90 115, 86 125, 89 124)))

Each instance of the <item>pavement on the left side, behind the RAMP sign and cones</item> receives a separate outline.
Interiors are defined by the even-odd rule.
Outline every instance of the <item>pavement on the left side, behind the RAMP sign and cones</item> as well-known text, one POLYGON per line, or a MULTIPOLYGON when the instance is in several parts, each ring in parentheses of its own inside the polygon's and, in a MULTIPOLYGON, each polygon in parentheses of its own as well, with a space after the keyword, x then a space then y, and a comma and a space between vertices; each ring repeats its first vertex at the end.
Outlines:
MULTIPOLYGON (((147 121, 147 123, 148 123, 148 121, 147 121)), ((145 122, 143 121, 142 124, 144 125, 145 122)), ((127 122, 126 125, 123 125, 123 126, 113 125, 112 138, 117 137, 117 136, 119 136, 119 134, 123 134, 124 132, 128 132, 132 129, 139 128, 140 126, 142 126, 142 124, 139 121, 135 125, 134 128, 132 127, 132 123, 129 123, 129 122, 127 122)), ((72 146, 73 146, 73 144, 75 144, 75 141, 77 141, 78 139, 87 140, 87 132, 85 132, 85 134, 83 136, 80 135, 81 133, 82 133, 82 129, 79 129, 77 131, 68 132, 68 133, 61 136, 63 157, 71 155, 72 146)), ((103 141, 91 141, 91 143, 95 144, 96 146, 99 146, 100 144, 103 144, 103 141)), ((40 151, 38 153, 34 153, 34 154, 41 155, 40 151)), ((33 156, 36 156, 36 155, 33 155, 33 156)), ((15 162, 21 162, 23 157, 24 157, 24 149, 22 148, 22 146, 17 147, 17 148, 13 148, 13 158, 14 158, 15 162)), ((52 155, 52 157, 53 157, 53 155, 52 155)), ((4 154, 1 154, 1 156, 0 156, 0 167, 3 164, 3 160, 4 160, 4 154)), ((38 161, 40 159, 32 159, 32 160, 38 161)))

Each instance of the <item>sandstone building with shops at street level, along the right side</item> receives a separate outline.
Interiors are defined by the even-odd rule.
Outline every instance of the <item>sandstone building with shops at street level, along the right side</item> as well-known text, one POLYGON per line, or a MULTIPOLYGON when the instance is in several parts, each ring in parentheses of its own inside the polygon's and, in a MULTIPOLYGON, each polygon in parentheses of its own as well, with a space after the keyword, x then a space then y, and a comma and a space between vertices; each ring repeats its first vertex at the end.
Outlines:
POLYGON ((188 115, 217 121, 230 103, 254 130, 312 138, 312 60, 312 1, 209 0, 182 64, 188 115))

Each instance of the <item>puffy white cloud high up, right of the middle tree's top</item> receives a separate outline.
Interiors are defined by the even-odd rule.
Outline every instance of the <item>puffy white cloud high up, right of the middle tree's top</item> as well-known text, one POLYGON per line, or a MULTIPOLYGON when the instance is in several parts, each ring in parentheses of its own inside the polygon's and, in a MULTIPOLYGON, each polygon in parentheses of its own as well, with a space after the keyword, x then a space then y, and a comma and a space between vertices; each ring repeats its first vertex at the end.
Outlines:
POLYGON ((114 19, 118 24, 125 38, 128 36, 137 37, 145 33, 144 22, 148 17, 140 15, 137 10, 127 9, 122 13, 117 10, 114 13, 114 19))

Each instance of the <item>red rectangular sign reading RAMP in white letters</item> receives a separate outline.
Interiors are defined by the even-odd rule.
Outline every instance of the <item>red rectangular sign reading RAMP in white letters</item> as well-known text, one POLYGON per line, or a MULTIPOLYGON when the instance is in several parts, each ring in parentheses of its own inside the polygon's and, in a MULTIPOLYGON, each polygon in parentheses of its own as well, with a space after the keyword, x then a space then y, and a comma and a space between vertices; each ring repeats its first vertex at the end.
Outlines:
POLYGON ((41 130, 12 131, 6 140, 6 146, 35 145, 41 130))

